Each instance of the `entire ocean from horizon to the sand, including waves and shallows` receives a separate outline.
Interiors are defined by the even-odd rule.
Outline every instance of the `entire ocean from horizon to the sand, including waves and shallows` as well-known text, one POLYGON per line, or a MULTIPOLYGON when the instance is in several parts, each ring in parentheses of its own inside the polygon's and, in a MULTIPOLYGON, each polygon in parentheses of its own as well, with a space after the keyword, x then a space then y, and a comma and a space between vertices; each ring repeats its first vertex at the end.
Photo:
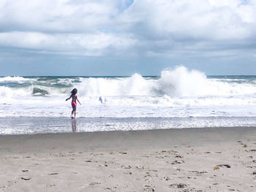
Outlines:
POLYGON ((0 134, 256 126, 256 76, 0 77, 0 134), (77 120, 65 101, 78 89, 77 120))

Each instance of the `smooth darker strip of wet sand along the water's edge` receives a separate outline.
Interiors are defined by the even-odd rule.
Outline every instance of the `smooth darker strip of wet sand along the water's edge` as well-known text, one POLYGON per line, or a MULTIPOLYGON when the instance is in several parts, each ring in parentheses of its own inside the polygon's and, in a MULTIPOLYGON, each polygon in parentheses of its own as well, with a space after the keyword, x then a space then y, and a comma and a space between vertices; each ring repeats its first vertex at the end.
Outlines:
MULTIPOLYGON (((138 147, 149 146, 165 147, 165 145, 179 145, 186 143, 187 145, 199 145, 212 143, 212 142, 227 142, 230 140, 237 140, 240 137, 255 138, 256 139, 256 127, 209 127, 209 128, 170 128, 170 129, 151 129, 151 130, 135 130, 135 131, 92 131, 92 132, 67 132, 67 133, 44 133, 44 134, 6 134, 0 135, 0 144, 3 146, 14 147, 15 142, 19 145, 23 142, 23 145, 30 145, 30 142, 44 141, 46 145, 42 148, 48 148, 50 146, 61 147, 56 143, 65 142, 68 139, 74 142, 73 147, 80 147, 81 144, 98 145, 99 148, 105 149, 107 147, 115 147, 115 142, 119 145, 124 144, 129 147, 136 147, 135 143, 140 143, 140 139, 143 139, 144 145, 138 145, 138 147), (254 137, 255 135, 255 137, 254 137), (201 136, 201 137, 200 137, 201 136), (156 138, 158 137, 158 138, 156 138), (170 137, 170 139, 169 139, 170 137), (189 137, 189 139, 187 139, 189 137), (202 138, 204 137, 204 138, 202 138), (225 140, 224 138, 225 137, 225 140), (121 139, 120 139, 121 138, 121 139), (221 139, 219 139, 221 138, 221 139), (132 139, 133 145, 130 143, 132 139), (157 142, 154 142, 154 139, 157 142), (159 142, 159 139, 161 142, 159 142), (110 141, 109 145, 103 145, 102 141, 110 141), (52 143, 51 143, 52 142, 52 143), (162 143, 162 145, 159 145, 162 143)), ((36 145, 36 143, 33 143, 36 145)), ((141 144, 141 143, 140 143, 141 144)), ((85 146, 85 147, 86 147, 85 146)), ((71 145, 68 147, 72 147, 71 145)), ((1 149, 1 148, 0 148, 1 149)), ((89 149, 86 148, 86 149, 89 149)), ((64 150, 64 148, 61 148, 64 150)))

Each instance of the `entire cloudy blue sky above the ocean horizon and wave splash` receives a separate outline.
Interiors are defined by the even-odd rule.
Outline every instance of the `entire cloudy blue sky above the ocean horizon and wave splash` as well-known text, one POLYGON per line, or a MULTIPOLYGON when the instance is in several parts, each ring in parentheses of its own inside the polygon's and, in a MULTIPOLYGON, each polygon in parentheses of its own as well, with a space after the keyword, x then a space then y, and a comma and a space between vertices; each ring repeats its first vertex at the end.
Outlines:
POLYGON ((256 0, 0 0, 0 75, 256 75, 256 0))

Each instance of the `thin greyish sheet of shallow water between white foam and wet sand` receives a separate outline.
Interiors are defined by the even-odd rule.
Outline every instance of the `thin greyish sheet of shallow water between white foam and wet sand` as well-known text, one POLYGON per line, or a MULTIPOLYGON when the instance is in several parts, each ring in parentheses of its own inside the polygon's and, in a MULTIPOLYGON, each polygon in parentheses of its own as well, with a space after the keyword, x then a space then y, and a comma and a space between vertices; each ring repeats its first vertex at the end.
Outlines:
POLYGON ((0 134, 136 131, 167 128, 251 127, 256 118, 0 118, 0 134))

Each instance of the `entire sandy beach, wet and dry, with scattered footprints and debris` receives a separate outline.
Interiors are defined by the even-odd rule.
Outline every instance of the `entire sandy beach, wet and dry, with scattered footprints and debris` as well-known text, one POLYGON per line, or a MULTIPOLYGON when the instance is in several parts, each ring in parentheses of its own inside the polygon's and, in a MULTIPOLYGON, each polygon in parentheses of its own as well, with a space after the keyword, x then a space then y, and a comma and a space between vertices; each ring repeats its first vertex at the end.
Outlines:
POLYGON ((256 191, 256 128, 0 136, 0 191, 256 191))

